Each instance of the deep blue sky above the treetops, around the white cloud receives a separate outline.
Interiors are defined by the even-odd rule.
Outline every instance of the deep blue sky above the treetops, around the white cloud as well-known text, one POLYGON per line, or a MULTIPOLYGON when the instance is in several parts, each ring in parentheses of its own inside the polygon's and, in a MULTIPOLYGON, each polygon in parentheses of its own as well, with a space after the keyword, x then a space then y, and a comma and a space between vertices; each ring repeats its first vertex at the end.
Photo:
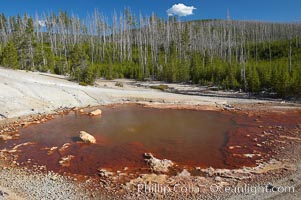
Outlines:
POLYGON ((111 16, 114 9, 120 12, 130 7, 136 14, 155 12, 160 17, 167 17, 167 9, 178 3, 196 8, 193 15, 182 17, 184 20, 225 19, 229 9, 231 18, 236 20, 301 21, 301 0, 0 0, 0 13, 34 15, 36 12, 66 10, 85 17, 97 8, 111 16))

